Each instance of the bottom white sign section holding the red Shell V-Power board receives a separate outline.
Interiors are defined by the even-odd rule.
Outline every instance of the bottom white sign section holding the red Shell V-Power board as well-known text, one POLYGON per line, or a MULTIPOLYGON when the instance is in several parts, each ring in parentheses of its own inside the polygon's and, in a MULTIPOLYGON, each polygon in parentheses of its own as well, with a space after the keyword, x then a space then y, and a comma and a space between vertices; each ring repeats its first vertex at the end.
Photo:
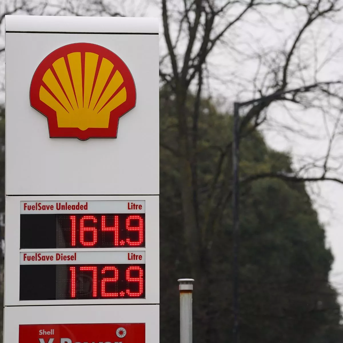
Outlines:
POLYGON ((158 305, 7 307, 4 342, 156 343, 158 321, 158 305))

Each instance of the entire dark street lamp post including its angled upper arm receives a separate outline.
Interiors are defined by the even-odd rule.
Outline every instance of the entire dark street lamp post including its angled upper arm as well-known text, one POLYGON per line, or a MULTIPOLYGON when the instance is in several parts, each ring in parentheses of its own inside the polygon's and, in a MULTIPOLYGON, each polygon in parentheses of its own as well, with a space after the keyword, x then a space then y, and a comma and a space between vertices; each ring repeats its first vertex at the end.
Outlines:
MULTIPOLYGON (((310 85, 307 87, 295 88, 288 91, 279 91, 268 96, 262 96, 257 99, 252 99, 246 102, 234 103, 234 125, 233 125, 233 189, 232 189, 232 209, 233 209, 233 343, 239 342, 239 133, 240 133, 240 120, 239 109, 244 106, 256 105, 263 102, 268 102, 285 94, 296 94, 299 92, 307 92, 315 88, 319 84, 310 85)), ((281 98, 282 99, 282 98, 281 98)), ((287 100, 287 98, 284 98, 287 100)))

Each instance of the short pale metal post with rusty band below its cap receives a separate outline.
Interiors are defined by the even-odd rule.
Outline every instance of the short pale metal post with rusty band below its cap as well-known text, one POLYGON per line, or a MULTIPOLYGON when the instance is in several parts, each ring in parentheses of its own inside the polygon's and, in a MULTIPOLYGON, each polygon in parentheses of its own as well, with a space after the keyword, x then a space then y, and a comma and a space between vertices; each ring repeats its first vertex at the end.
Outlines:
POLYGON ((192 293, 194 279, 179 279, 180 291, 180 343, 192 343, 192 293))

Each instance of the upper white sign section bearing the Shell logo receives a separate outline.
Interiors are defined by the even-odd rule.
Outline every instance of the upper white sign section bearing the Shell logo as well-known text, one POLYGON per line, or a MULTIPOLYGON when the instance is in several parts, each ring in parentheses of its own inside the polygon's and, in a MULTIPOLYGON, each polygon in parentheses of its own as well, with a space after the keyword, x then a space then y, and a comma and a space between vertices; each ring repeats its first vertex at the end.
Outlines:
POLYGON ((7 194, 158 194, 158 20, 5 28, 7 194))

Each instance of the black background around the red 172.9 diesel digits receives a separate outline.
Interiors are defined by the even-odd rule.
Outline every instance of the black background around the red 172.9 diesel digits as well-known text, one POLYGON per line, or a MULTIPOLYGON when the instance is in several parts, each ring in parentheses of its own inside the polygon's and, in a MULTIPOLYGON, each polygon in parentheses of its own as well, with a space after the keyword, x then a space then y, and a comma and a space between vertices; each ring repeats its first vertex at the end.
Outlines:
MULTIPOLYGON (((113 297, 112 299, 133 299, 133 298, 145 298, 145 264, 86 264, 87 266, 96 265, 98 268, 97 273, 97 297, 92 295, 92 287, 89 292, 78 292, 82 287, 76 286, 76 297, 70 296, 70 277, 65 279, 62 277, 63 273, 68 273, 69 267, 76 267, 76 274, 81 278, 89 280, 92 276, 92 272, 78 272, 82 264, 24 264, 20 265, 20 290, 19 300, 74 300, 74 299, 111 299, 110 297, 101 297, 101 280, 103 277, 113 277, 113 272, 106 272, 105 275, 101 274, 101 270, 104 266, 115 266, 119 270, 119 280, 116 283, 106 283, 106 292, 120 292, 125 291, 127 288, 131 292, 138 292, 138 282, 126 281, 126 269, 131 265, 139 265, 144 271, 144 288, 143 294, 139 297, 130 297, 127 294, 121 297, 113 297)), ((70 275, 70 273, 65 274, 70 275)), ((131 271, 131 277, 138 277, 138 271, 131 271)), ((81 281, 85 282, 85 281, 81 281)), ((86 281, 87 282, 87 281, 86 281)), ((88 281, 89 284, 89 281, 88 281)), ((87 284, 87 285, 88 285, 87 284)), ((85 283, 83 289, 89 288, 85 283)))

